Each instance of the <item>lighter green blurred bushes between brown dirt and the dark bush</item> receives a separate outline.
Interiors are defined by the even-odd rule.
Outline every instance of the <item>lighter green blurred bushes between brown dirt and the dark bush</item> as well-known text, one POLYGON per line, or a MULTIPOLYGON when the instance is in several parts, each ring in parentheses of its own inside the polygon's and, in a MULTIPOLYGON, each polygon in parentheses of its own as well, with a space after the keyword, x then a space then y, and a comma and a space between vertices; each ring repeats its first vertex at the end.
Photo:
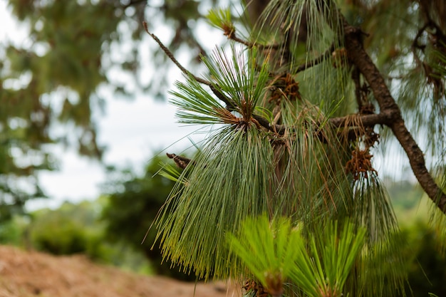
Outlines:
POLYGON ((21 228, 19 245, 55 255, 85 254, 102 264, 152 273, 150 262, 140 252, 106 239, 105 222, 100 221, 103 203, 105 198, 100 197, 93 202, 65 202, 58 209, 32 212, 31 221, 21 228))

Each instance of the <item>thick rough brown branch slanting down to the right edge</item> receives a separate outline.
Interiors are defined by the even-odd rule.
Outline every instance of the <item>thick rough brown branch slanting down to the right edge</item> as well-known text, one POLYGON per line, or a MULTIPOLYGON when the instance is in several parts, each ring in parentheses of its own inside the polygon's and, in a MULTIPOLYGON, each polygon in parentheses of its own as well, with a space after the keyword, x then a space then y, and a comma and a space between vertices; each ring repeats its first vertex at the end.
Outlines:
POLYGON ((405 126, 403 117, 401 116, 401 110, 396 104, 395 99, 390 95, 383 75, 378 71, 378 68, 376 68, 368 53, 365 52, 361 30, 348 25, 341 13, 339 13, 339 16, 343 20, 348 58, 358 68, 370 85, 373 95, 378 101, 380 114, 386 119, 385 125, 390 127, 398 142, 400 142, 400 145, 405 150, 406 155, 408 155, 410 167, 412 167, 413 173, 417 177, 418 182, 420 182, 422 189, 425 190, 426 194, 435 202, 437 207, 446 214, 446 194, 438 187, 427 170, 423 152, 405 126))

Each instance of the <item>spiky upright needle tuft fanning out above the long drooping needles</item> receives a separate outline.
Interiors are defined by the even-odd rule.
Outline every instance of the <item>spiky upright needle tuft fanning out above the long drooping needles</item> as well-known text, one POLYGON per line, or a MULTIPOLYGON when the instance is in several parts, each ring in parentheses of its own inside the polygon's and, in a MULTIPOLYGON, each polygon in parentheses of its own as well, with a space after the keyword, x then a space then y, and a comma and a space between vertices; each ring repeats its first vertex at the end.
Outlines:
POLYGON ((266 64, 257 71, 256 48, 244 52, 235 46, 231 48, 230 58, 226 51, 217 48, 211 58, 203 58, 209 70, 209 80, 219 90, 230 108, 242 118, 230 113, 227 106, 216 98, 210 90, 190 76, 186 83, 175 83, 177 90, 171 92, 174 98, 170 103, 177 106, 176 113, 180 123, 187 124, 231 124, 238 125, 242 121, 251 123, 251 115, 266 88, 269 73, 266 64))

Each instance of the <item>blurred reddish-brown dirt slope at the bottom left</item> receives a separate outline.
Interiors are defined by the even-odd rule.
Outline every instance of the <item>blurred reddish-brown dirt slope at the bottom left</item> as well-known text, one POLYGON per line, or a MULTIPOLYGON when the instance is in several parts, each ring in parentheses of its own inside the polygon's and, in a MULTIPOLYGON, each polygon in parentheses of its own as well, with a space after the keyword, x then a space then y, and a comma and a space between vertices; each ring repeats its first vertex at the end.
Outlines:
POLYGON ((101 266, 85 256, 51 256, 0 246, 0 297, 241 296, 224 282, 185 283, 101 266))

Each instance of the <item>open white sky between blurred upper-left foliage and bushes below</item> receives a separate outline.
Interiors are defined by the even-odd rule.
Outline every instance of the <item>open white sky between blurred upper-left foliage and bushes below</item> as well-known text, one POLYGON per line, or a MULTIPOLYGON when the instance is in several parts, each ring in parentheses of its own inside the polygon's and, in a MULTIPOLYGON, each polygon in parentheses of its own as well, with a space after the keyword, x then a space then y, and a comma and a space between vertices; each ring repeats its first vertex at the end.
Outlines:
MULTIPOLYGON (((132 102, 110 99, 106 110, 105 118, 99 120, 98 141, 108 146, 104 155, 107 164, 133 165, 142 170, 152 155, 193 130, 175 123, 174 108, 151 98, 141 96, 132 102)), ((167 152, 179 153, 188 145, 189 140, 182 140, 167 152)), ((99 196, 98 185, 105 181, 105 173, 98 162, 74 151, 57 155, 63 156, 61 170, 40 174, 42 187, 51 199, 33 200, 28 207, 56 207, 66 200, 99 196)))

